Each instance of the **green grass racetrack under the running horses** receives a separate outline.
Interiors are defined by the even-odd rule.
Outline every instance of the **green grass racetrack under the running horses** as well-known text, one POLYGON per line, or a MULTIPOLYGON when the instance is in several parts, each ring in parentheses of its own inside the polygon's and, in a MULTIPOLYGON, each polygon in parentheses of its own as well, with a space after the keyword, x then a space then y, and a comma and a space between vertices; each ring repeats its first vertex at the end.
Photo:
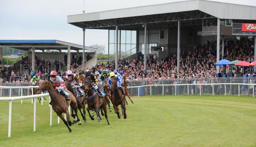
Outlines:
POLYGON ((8 138, 8 102, 0 102, 0 146, 256 146, 256 98, 237 96, 133 97, 127 120, 109 112, 102 121, 67 127, 50 109, 37 103, 13 103, 12 134, 8 138))

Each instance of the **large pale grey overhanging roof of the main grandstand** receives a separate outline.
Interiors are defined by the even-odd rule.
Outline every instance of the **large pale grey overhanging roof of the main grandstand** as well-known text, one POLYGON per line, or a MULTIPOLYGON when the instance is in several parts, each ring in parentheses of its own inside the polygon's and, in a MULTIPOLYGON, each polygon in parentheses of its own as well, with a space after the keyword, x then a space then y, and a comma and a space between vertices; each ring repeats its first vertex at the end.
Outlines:
POLYGON ((195 20, 204 18, 256 20, 256 7, 205 0, 190 0, 159 5, 125 8, 118 10, 84 13, 68 16, 68 23, 81 28, 139 30, 141 24, 148 23, 170 26, 177 20, 181 25, 197 24, 195 20), (183 22, 183 23, 182 23, 183 22))

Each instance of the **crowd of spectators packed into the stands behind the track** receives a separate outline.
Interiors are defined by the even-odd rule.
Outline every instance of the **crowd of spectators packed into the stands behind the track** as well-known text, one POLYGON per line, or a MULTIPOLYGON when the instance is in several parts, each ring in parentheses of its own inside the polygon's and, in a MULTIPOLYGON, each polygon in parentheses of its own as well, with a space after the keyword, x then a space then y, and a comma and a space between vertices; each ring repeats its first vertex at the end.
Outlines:
MULTIPOLYGON (((222 44, 222 42, 221 42, 222 44)), ((249 63, 253 62, 254 58, 254 41, 252 38, 240 38, 238 39, 226 39, 224 44, 224 58, 229 61, 240 60, 247 61, 249 63)), ((168 80, 168 79, 200 79, 200 78, 214 78, 220 76, 217 74, 217 69, 215 63, 216 59, 216 41, 205 43, 204 45, 195 45, 192 49, 181 50, 180 52, 180 71, 177 72, 177 54, 172 53, 169 56, 159 58, 156 54, 148 54, 146 57, 146 70, 144 71, 144 55, 141 52, 138 52, 137 58, 129 59, 124 58, 118 62, 118 70, 123 71, 126 76, 129 76, 131 80, 168 80)), ((65 64, 67 64, 66 59, 67 54, 65 55, 65 64)), ((220 49, 220 57, 221 49, 220 49)), ((87 55, 87 60, 90 59, 90 55, 87 55)), ((75 73, 75 68, 81 64, 81 56, 75 54, 71 58, 71 69, 75 73)), ((49 69, 50 62, 49 60, 45 63, 36 57, 37 64, 37 73, 30 70, 30 74, 22 75, 24 77, 23 81, 28 80, 31 76, 36 75, 42 79, 48 77, 49 72, 52 69, 49 69), (48 68, 46 68, 48 67, 48 68)), ((59 62, 55 61, 56 70, 59 69, 59 62)), ((107 62, 106 64, 99 63, 91 70, 93 72, 101 72, 104 69, 109 69, 113 71, 115 69, 115 61, 107 62)), ((55 70, 55 69, 54 69, 55 70)), ((227 74, 227 76, 242 76, 242 73, 245 73, 245 70, 242 70, 242 67, 235 69, 232 67, 229 70, 229 67, 220 67, 220 72, 227 74), (230 72, 230 73, 229 73, 230 72)), ((59 75, 65 74, 60 73, 59 75)), ((249 75, 249 74, 248 74, 249 75)), ((15 71, 15 68, 12 66, 11 71, 6 73, 7 79, 11 81, 15 80, 15 76, 20 76, 18 72, 15 71), (13 76, 13 78, 11 77, 13 76), (11 77, 11 78, 10 78, 11 77)))

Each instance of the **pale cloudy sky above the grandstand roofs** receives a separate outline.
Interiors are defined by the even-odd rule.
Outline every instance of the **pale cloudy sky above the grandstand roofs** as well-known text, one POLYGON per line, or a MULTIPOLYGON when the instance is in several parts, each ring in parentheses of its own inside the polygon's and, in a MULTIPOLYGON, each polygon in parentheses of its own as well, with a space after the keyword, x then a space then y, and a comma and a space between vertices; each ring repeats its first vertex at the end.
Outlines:
MULTIPOLYGON (((0 0, 0 39, 56 39, 82 45, 82 29, 68 24, 67 15, 178 1, 184 0, 0 0)), ((212 1, 256 6, 256 0, 212 1)), ((85 44, 105 45, 108 50, 108 31, 86 30, 85 44)))

